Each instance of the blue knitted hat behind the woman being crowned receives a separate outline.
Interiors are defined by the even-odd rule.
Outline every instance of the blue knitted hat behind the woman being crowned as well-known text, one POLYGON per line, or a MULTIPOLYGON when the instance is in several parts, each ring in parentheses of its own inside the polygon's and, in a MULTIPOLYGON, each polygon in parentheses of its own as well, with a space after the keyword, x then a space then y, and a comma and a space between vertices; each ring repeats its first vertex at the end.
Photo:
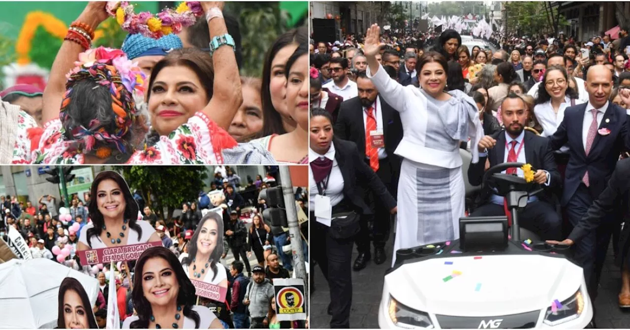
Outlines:
POLYGON ((127 35, 122 43, 122 51, 130 60, 141 56, 166 56, 171 50, 183 47, 180 37, 173 33, 157 40, 140 34, 127 35))

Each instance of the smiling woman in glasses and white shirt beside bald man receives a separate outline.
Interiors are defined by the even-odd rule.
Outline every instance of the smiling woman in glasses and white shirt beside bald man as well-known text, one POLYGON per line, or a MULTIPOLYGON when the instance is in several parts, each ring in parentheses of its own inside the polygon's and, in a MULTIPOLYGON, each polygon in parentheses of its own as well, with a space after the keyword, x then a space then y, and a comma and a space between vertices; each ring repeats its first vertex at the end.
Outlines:
MULTIPOLYGON (((569 86, 569 79, 566 69, 558 65, 547 68, 542 76, 542 83, 538 87, 538 96, 534 102, 536 104, 534 114, 542 126, 542 136, 551 136, 556 133, 564 119, 564 110, 567 107, 583 103, 578 99, 575 89, 569 86)), ((564 171, 569 163, 569 148, 563 146, 553 154, 562 182, 564 182, 564 171)))

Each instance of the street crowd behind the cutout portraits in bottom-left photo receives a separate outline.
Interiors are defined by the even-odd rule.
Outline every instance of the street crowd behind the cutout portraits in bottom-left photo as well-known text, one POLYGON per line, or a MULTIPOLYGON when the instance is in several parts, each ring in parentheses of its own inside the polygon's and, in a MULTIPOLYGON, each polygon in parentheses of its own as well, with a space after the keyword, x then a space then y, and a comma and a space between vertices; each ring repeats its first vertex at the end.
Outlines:
MULTIPOLYGON (((191 241, 195 241, 194 233, 201 226, 207 212, 217 212, 223 219, 219 228, 224 229, 222 255, 225 260, 229 250, 234 260, 231 263, 217 263, 217 267, 225 268, 227 277, 227 295, 222 302, 200 297, 199 304, 214 312, 226 328, 303 328, 304 322, 277 321, 275 308, 275 291, 273 279, 290 278, 293 271, 293 258, 287 241, 288 229, 275 227, 261 216, 266 203, 258 198, 260 190, 273 187, 277 182, 277 168, 269 167, 266 177, 260 175, 247 178, 247 185, 229 166, 215 168, 215 177, 209 192, 200 192, 197 201, 183 204, 181 212, 171 221, 158 217, 139 192, 133 197, 139 205, 142 219, 151 224, 162 241, 162 246, 172 251, 182 264, 186 263, 191 241), (209 197, 210 195, 210 197, 209 197), (246 223, 251 221, 251 226, 246 223), (287 250, 289 248, 289 250, 287 250), (249 256, 256 255, 255 263, 250 265, 249 256), (241 260, 241 257, 243 260, 241 260), (246 272, 245 272, 246 271, 246 272), (251 294, 250 294, 251 292, 251 294)), ((296 200, 304 203, 306 195, 298 191, 296 200)), ((77 243, 81 228, 91 224, 87 205, 91 202, 90 194, 85 194, 86 201, 77 194, 71 197, 70 206, 63 201, 57 202, 55 197, 44 195, 33 206, 30 201, 24 204, 15 196, 0 198, 0 236, 9 240, 8 227, 12 226, 26 240, 33 258, 48 258, 67 267, 83 272, 99 281, 100 292, 96 305, 93 306, 96 323, 105 327, 106 304, 109 286, 116 285, 118 312, 122 323, 134 316, 132 290, 134 283, 135 260, 118 262, 114 269, 109 264, 82 265, 77 252, 77 243), (109 283, 110 272, 115 272, 115 283, 109 283)), ((307 211, 306 211, 307 212, 307 211)), ((304 238, 308 237, 308 223, 302 225, 304 238)), ((302 239, 304 241, 304 239, 302 239)), ((307 249, 306 241, 302 245, 307 249)), ((194 253, 194 252, 192 252, 194 253)), ((305 255, 307 250, 304 251, 305 255)), ((187 268, 187 267, 186 267, 187 268)))

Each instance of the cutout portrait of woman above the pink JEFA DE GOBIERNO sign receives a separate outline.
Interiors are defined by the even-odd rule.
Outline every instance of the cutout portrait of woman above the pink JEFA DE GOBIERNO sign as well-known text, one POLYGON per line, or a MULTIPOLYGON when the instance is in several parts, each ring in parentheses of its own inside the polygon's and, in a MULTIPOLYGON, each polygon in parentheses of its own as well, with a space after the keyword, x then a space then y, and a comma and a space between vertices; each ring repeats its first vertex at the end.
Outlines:
POLYGON ((81 228, 77 251, 161 241, 149 221, 138 220, 138 204, 120 174, 98 173, 90 192, 92 222, 81 228))

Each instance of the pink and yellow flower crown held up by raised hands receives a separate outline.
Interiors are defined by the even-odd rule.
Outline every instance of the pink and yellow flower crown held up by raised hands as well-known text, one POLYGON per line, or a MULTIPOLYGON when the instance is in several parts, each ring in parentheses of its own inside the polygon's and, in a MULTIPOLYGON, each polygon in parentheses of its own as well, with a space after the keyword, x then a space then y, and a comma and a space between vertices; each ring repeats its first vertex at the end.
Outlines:
POLYGON ((108 1, 105 9, 110 16, 116 18, 123 30, 132 35, 140 33, 154 39, 180 33, 181 28, 195 24, 197 18, 203 14, 199 1, 185 1, 175 10, 166 8, 157 15, 148 11, 136 14, 134 5, 128 1, 108 1))

